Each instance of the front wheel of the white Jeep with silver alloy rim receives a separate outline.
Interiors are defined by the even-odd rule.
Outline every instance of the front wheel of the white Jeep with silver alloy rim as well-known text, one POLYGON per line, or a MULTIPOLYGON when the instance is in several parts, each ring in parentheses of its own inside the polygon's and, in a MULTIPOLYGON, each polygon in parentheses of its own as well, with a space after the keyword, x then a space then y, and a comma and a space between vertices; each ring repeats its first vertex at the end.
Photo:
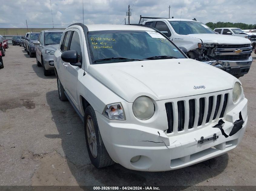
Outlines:
POLYGON ((114 164, 102 141, 96 114, 91 106, 85 109, 84 122, 85 140, 91 163, 97 168, 114 164))

